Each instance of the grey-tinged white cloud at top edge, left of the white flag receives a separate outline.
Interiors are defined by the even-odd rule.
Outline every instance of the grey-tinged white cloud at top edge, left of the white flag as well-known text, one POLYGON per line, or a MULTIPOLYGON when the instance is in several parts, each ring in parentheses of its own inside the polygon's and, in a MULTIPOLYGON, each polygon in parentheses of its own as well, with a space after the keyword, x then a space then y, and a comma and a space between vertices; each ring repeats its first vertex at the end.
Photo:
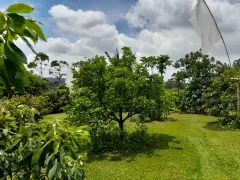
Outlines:
POLYGON ((134 27, 154 30, 186 25, 193 0, 139 0, 126 14, 134 27))

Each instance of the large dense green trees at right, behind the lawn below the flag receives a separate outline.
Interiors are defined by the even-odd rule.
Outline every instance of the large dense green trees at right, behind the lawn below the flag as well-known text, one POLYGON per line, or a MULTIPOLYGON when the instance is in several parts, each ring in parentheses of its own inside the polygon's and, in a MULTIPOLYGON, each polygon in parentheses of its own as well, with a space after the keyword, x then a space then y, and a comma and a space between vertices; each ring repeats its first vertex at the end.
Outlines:
MULTIPOLYGON (((186 81, 179 91, 179 108, 184 112, 228 116, 236 108, 236 87, 231 78, 238 78, 238 60, 226 64, 200 52, 190 53, 175 63, 180 69, 174 74, 177 82, 186 81)), ((179 89, 179 88, 178 88, 179 89)))

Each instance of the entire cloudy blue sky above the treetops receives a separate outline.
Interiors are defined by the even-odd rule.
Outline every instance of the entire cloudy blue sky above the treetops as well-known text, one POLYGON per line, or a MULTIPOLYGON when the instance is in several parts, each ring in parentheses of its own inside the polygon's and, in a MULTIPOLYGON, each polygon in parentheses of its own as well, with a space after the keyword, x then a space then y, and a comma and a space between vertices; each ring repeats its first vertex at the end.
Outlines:
MULTIPOLYGON (((225 38, 232 60, 240 58, 239 0, 206 0, 225 38)), ((16 0, 0 0, 4 10, 16 0)), ((38 52, 51 60, 70 63, 129 46, 137 56, 170 55, 173 61, 200 48, 201 42, 189 23, 197 0, 22 0, 35 11, 29 16, 44 23, 48 42, 38 52)), ((33 54, 19 46, 31 61, 33 54)), ((227 62, 223 44, 211 55, 227 62)), ((169 68, 166 78, 174 70, 169 68)))

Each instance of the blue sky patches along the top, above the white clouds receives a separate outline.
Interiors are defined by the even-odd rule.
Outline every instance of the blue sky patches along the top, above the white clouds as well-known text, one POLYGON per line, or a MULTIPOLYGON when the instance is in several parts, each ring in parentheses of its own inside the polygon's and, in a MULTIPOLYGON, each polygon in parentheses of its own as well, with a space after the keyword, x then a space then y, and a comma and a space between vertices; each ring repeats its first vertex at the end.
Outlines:
POLYGON ((128 26, 126 19, 121 17, 128 12, 129 8, 134 5, 137 0, 8 0, 0 2, 0 7, 8 7, 11 3, 22 2, 32 5, 35 11, 32 17, 39 19, 45 24, 43 27, 47 37, 56 37, 53 32, 55 24, 50 20, 49 9, 57 4, 63 4, 73 10, 82 9, 103 11, 108 16, 109 23, 114 23, 119 32, 132 35, 139 31, 138 28, 128 26))

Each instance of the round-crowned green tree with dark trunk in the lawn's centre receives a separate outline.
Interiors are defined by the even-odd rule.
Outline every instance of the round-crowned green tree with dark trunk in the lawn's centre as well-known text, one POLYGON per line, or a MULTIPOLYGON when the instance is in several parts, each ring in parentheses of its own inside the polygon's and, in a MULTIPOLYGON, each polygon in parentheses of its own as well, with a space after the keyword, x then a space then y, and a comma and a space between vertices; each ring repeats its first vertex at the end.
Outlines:
MULTIPOLYGON (((122 57, 115 56, 109 62, 96 56, 74 64, 77 68, 73 71, 74 93, 69 112, 74 120, 82 124, 112 120, 123 132, 127 119, 147 112, 154 104, 148 70, 137 64, 130 48, 122 50, 122 57)), ((160 83, 154 89, 159 96, 162 87, 160 83)))

